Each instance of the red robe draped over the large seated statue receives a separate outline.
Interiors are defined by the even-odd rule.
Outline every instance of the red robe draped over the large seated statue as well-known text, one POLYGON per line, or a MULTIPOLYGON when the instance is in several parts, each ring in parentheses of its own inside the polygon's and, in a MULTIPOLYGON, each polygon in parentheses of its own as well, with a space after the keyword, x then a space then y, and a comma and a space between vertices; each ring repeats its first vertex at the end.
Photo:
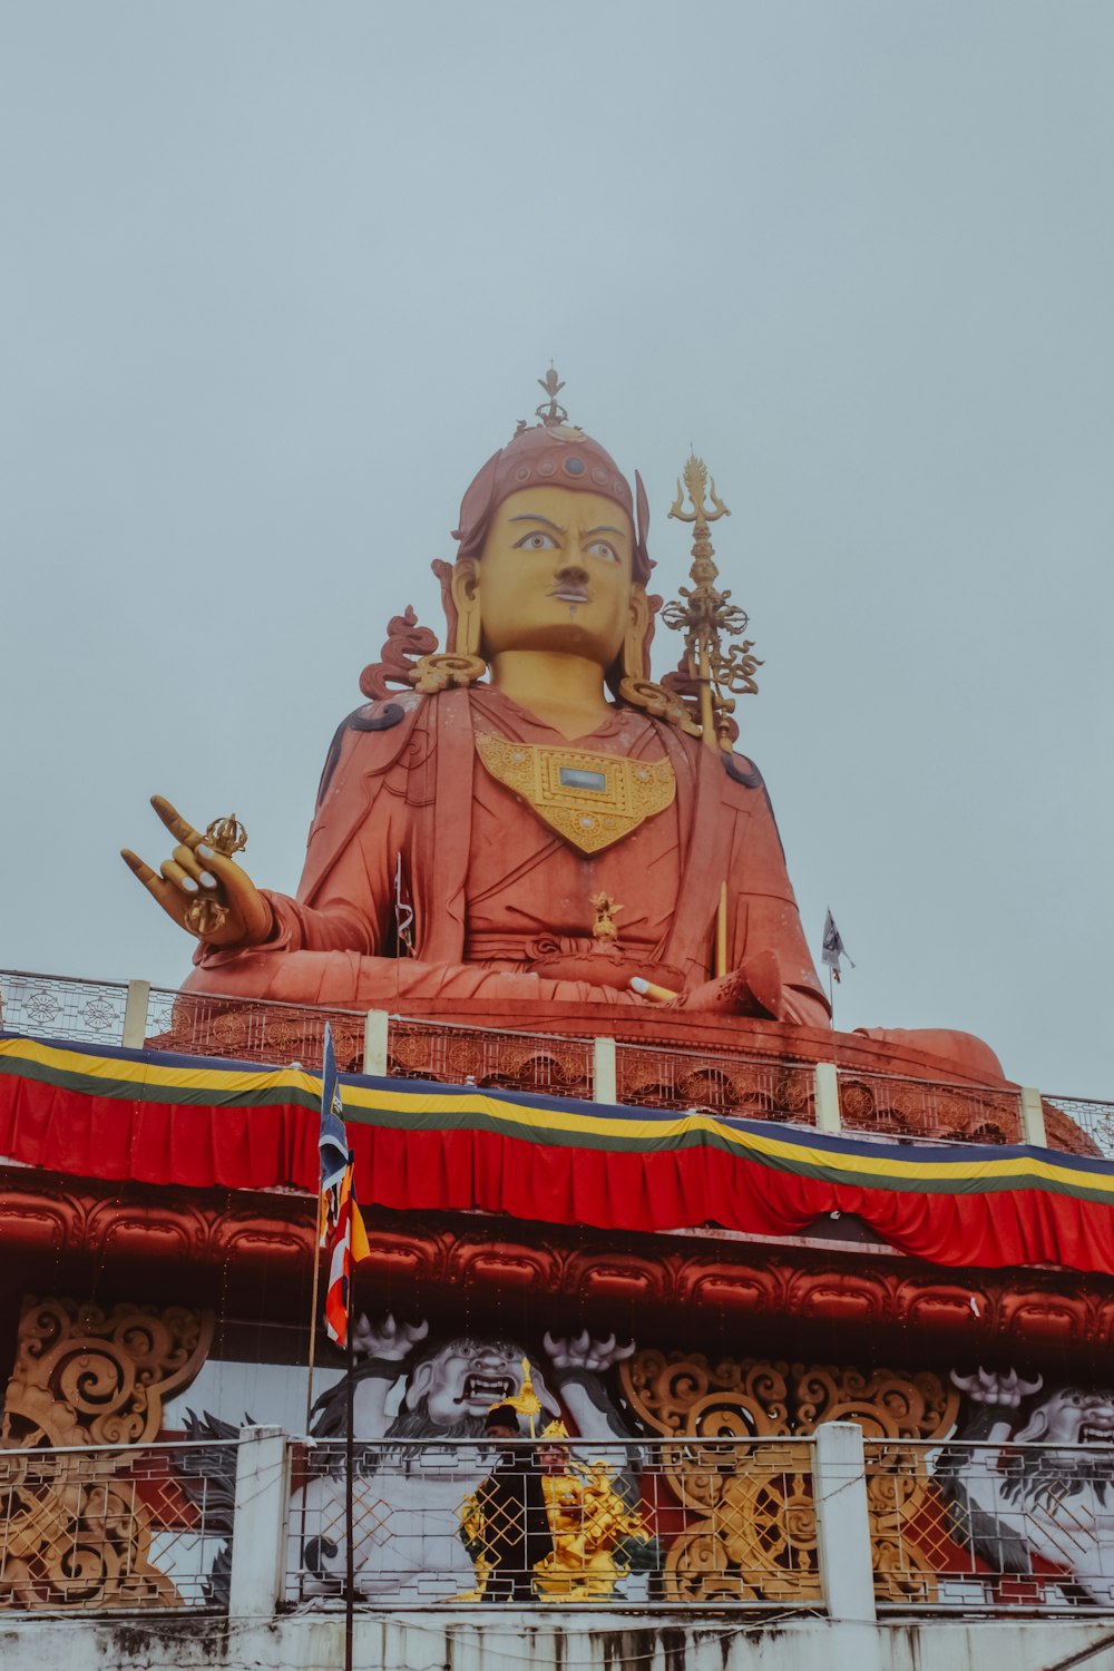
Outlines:
MULTIPOLYGON (((242 951, 199 947, 194 991, 302 1004, 414 1008, 459 996, 493 1004, 635 1004, 626 991, 561 976, 556 959, 591 951, 590 899, 621 906, 620 951, 660 986, 710 976, 720 884, 727 882, 728 969, 778 956, 783 1018, 827 1024, 773 812, 753 765, 628 709, 576 745, 631 759, 668 757, 671 807, 586 857, 498 784, 478 730, 568 745, 499 692, 403 695, 357 710, 334 740, 297 897, 267 894, 272 936, 242 951), (413 956, 399 956, 396 877, 413 902, 413 956)), ((539 1014, 538 1019, 543 1019, 539 1014)))

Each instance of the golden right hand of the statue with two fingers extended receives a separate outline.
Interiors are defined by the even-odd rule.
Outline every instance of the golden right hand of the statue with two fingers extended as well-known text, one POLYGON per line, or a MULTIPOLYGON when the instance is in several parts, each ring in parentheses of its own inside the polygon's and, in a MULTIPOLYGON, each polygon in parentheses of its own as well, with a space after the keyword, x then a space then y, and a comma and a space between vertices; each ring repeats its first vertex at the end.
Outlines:
MULTIPOLYGON (((150 804, 177 841, 174 854, 159 871, 134 854, 120 849, 132 871, 149 894, 159 901, 180 929, 207 946, 259 946, 271 934, 271 906, 252 882, 247 871, 234 859, 217 852, 192 824, 175 812, 162 795, 152 795, 150 804), (219 927, 197 926, 204 916, 197 912, 200 901, 212 901, 225 916, 219 927)), ((219 916, 210 912, 209 916, 219 916)))

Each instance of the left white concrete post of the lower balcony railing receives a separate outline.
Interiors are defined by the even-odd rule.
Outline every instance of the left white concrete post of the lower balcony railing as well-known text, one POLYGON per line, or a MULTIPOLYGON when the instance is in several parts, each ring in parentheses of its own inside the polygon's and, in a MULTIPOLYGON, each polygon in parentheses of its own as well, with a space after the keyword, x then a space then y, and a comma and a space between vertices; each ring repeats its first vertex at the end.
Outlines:
POLYGON ((286 1434, 281 1427, 241 1427, 229 1618, 274 1618, 286 1572, 286 1434))

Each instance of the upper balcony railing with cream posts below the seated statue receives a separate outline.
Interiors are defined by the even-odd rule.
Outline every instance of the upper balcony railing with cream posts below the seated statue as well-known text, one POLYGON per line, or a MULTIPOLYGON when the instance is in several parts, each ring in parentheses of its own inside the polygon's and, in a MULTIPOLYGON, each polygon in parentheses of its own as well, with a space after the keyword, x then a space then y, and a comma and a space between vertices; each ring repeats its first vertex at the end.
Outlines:
POLYGON ((1034 1143, 1114 1158, 1114 1103, 858 1068, 837 1071, 720 1049, 209 998, 145 981, 0 971, 0 1024, 32 1038, 312 1069, 321 1061, 326 1023, 349 1073, 777 1120, 880 1141, 1034 1143))

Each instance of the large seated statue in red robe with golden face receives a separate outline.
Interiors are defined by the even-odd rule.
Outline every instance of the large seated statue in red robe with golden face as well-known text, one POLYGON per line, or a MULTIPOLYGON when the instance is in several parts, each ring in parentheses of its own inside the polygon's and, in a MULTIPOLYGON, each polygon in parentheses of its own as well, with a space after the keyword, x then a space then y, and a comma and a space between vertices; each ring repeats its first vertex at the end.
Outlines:
POLYGON ((468 488, 456 561, 434 565, 446 652, 408 612, 366 670, 297 894, 257 889, 155 797, 172 857, 124 857, 199 941, 192 991, 464 1004, 524 1029, 593 1008, 596 1031, 651 1009, 828 1026, 760 772, 650 680, 641 480, 631 493, 549 393, 468 488))

